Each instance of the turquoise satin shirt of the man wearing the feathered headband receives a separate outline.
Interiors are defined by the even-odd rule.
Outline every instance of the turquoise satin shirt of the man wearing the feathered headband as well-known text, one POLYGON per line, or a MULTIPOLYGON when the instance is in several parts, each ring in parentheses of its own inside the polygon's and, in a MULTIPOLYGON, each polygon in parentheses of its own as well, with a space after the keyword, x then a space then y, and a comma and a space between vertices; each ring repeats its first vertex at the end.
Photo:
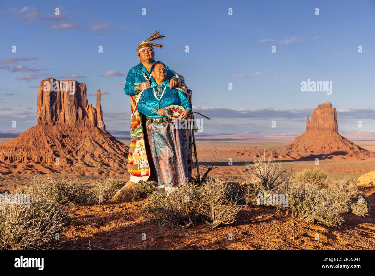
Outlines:
MULTIPOLYGON (((155 63, 155 61, 153 62, 155 63)), ((170 80, 171 78, 175 78, 177 80, 177 77, 172 73, 171 69, 168 68, 168 66, 165 66, 166 69, 166 78, 170 80)), ((143 66, 142 62, 138 65, 134 66, 132 69, 129 70, 129 73, 127 73, 126 81, 125 81, 125 87, 124 92, 128 96, 136 95, 139 93, 134 91, 135 83, 140 84, 147 81, 145 77, 143 77, 143 73, 146 75, 147 79, 151 75, 151 68, 150 71, 147 72, 147 69, 143 66)), ((150 81, 154 81, 154 77, 151 76, 150 81)))

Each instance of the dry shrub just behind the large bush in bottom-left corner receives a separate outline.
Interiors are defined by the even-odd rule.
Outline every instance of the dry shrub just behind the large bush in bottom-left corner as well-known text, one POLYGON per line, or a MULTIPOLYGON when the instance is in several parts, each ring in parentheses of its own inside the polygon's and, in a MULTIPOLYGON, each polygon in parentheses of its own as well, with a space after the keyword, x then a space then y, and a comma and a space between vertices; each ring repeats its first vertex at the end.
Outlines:
POLYGON ((67 179, 54 180, 51 177, 34 177, 20 193, 30 193, 46 204, 77 204, 85 201, 85 192, 77 183, 67 179))

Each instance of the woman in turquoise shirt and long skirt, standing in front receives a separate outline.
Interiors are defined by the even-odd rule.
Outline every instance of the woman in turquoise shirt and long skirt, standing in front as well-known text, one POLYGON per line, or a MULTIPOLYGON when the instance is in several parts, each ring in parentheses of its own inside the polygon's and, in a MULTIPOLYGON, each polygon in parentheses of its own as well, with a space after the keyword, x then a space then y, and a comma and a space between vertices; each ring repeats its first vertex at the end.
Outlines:
POLYGON ((146 129, 151 155, 156 168, 158 191, 168 193, 184 185, 188 178, 184 130, 177 121, 166 117, 170 105, 185 110, 179 119, 190 114, 191 105, 178 89, 171 89, 164 63, 155 62, 151 68, 154 81, 144 90, 138 102, 138 111, 146 115, 146 129))

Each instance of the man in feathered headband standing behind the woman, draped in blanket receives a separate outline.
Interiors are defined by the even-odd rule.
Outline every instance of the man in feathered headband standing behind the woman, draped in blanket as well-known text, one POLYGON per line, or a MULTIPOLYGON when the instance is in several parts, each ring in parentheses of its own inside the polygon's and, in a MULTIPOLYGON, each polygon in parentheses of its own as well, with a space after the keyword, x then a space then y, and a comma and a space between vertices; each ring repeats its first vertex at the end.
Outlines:
MULTIPOLYGON (((150 88, 153 81, 151 67, 155 63, 153 46, 163 48, 162 44, 151 42, 162 39, 159 31, 153 33, 148 39, 142 41, 136 48, 140 63, 129 70, 126 77, 124 93, 130 96, 132 109, 130 125, 130 147, 127 158, 127 167, 130 174, 130 181, 138 183, 140 180, 156 180, 156 171, 150 155, 147 132, 145 129, 145 118, 138 113, 137 102, 139 92, 150 88), (150 175, 152 176, 150 178, 150 175)), ((169 88, 177 86, 177 77, 165 66, 166 77, 169 80, 169 88)))

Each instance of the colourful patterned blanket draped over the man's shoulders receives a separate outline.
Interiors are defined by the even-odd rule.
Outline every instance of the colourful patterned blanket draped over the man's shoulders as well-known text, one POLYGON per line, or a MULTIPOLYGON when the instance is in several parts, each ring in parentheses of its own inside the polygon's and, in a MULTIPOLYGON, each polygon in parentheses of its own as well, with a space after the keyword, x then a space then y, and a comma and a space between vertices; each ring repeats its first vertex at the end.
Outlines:
MULTIPOLYGON (((184 77, 172 71, 178 77, 178 89, 184 92, 186 98, 189 99, 191 104, 191 90, 187 89, 184 82, 184 77)), ((135 85, 138 83, 135 83, 135 85)), ((151 157, 150 145, 148 144, 148 137, 145 128, 145 116, 138 113, 137 103, 141 93, 130 96, 130 106, 132 109, 132 118, 130 123, 130 147, 129 155, 127 157, 127 170, 130 174, 130 181, 138 183, 140 180, 157 181, 156 170, 151 157)), ((193 118, 191 110, 189 118, 193 118)), ((189 177, 192 171, 192 129, 190 127, 184 129, 187 169, 189 177)))

